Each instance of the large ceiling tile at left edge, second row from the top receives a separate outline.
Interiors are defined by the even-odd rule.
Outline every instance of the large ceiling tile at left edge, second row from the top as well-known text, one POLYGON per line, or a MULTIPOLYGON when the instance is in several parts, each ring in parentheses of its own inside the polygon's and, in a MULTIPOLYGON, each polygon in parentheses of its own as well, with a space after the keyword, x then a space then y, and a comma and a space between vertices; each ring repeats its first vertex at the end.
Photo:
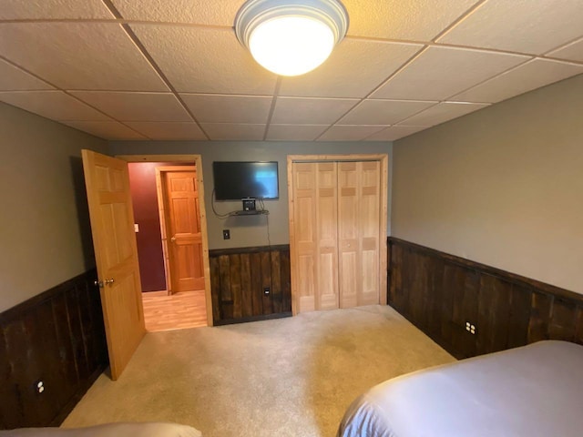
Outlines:
POLYGON ((5 23, 0 53, 64 89, 168 91, 114 23, 5 23))

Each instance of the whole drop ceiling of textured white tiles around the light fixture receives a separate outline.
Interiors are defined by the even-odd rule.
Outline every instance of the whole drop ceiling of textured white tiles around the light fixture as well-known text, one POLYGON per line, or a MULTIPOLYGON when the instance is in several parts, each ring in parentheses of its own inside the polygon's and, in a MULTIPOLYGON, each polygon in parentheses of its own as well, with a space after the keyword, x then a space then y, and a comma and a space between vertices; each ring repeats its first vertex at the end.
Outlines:
POLYGON ((289 77, 238 44, 244 0, 197 2, 8 2, 0 101, 111 140, 393 141, 583 74, 571 3, 346 0, 333 58, 289 77))

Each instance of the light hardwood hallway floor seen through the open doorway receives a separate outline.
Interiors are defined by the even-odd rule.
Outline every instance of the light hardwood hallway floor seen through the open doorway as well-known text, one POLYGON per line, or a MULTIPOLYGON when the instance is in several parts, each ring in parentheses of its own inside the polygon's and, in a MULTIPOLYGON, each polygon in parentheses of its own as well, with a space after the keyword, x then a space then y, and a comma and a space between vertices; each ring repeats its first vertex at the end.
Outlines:
POLYGON ((142 300, 148 332, 207 326, 204 290, 183 291, 171 296, 166 291, 150 291, 142 293, 142 300))

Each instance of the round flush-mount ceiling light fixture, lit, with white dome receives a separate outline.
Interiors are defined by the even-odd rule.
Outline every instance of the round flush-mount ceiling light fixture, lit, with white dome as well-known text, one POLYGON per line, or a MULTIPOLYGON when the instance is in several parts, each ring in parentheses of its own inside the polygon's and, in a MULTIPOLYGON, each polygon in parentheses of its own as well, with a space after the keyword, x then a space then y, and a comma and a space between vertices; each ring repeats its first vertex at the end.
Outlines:
POLYGON ((320 66, 347 29, 348 14, 337 0, 248 0, 235 17, 240 44, 281 76, 320 66))

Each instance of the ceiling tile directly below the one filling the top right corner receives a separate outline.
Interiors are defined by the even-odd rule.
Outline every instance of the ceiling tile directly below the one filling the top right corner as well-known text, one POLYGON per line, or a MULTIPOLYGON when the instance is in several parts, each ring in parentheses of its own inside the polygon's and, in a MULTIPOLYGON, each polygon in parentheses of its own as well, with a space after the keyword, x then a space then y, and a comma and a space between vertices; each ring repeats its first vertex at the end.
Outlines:
POLYGON ((527 59, 528 56, 431 46, 375 91, 372 98, 445 100, 527 59))

